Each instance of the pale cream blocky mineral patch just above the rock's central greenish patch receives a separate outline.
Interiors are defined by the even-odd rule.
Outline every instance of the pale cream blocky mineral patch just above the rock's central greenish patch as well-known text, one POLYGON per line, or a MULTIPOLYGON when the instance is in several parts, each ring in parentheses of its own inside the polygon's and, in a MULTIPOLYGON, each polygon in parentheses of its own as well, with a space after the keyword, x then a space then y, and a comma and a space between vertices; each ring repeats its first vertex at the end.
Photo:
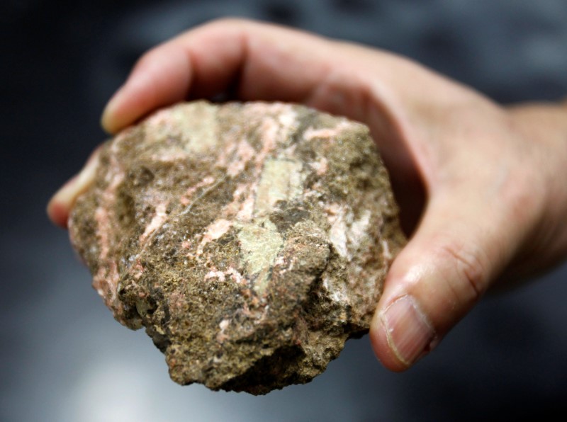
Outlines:
POLYGON ((293 200, 303 193, 302 164, 289 159, 267 159, 254 205, 258 217, 268 215, 278 201, 293 200))

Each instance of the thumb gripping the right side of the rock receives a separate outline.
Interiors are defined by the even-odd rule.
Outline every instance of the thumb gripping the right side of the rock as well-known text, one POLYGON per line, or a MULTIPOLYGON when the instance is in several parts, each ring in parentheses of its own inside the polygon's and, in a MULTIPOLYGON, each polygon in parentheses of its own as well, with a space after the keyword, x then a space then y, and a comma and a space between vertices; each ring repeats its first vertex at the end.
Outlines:
POLYGON ((498 221, 498 200, 490 202, 463 189, 430 199, 371 322, 374 352, 388 369, 405 370, 437 346, 510 260, 503 245, 517 244, 518 234, 498 221))

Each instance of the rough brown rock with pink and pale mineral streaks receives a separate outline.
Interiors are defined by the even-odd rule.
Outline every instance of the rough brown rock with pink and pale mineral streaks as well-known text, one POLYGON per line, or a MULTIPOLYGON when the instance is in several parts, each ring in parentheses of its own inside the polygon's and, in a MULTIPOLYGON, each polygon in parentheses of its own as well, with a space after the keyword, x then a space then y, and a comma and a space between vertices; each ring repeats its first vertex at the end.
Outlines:
POLYGON ((312 380, 366 333, 405 241, 368 129, 282 103, 184 103, 130 127, 69 230, 174 381, 252 394, 312 380))

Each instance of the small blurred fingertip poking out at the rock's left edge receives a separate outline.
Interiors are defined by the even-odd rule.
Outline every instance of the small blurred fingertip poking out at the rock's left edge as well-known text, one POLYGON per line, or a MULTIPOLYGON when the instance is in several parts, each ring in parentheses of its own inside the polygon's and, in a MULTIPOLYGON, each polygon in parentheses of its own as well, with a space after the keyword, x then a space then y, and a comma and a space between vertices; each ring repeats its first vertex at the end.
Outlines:
POLYGON ((60 190, 57 190, 57 193, 47 204, 47 216, 57 226, 67 228, 69 212, 71 212, 77 197, 89 188, 94 181, 96 166, 99 164, 99 154, 100 147, 94 150, 79 174, 67 181, 60 190))

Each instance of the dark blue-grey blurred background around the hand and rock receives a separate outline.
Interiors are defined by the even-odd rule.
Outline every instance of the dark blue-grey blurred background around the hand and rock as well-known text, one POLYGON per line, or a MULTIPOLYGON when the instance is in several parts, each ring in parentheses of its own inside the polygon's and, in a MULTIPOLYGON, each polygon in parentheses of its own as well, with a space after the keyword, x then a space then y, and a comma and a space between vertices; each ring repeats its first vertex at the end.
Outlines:
MULTIPOLYGON (((248 16, 394 50, 501 102, 567 95, 564 0, 4 0, 0 6, 1 421, 466 421, 567 410, 567 266, 487 297, 403 374, 368 338, 265 397, 179 387, 145 333, 113 321, 45 204, 105 135, 145 50, 248 16)), ((479 122, 482 124, 482 122, 479 122)))

